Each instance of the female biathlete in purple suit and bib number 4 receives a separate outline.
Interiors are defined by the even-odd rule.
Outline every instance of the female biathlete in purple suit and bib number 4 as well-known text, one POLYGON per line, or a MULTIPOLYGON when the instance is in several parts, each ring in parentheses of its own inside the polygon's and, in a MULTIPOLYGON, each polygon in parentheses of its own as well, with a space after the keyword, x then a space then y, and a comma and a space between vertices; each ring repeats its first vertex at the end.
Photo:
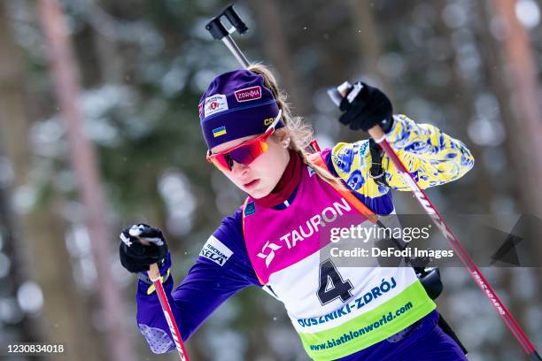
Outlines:
MULTIPOLYGON (((354 88, 360 91, 341 103, 340 122, 353 130, 382 127, 422 188, 456 180, 473 166, 462 142, 437 127, 392 115, 391 102, 379 89, 364 83, 354 88)), ((340 142, 318 157, 308 154, 311 129, 290 115, 284 100, 262 65, 217 76, 202 96, 198 109, 207 160, 248 197, 222 219, 178 288, 159 229, 141 224, 120 234, 121 263, 138 273, 137 325, 151 350, 174 350, 145 273, 159 263, 183 340, 229 297, 257 286, 284 303, 315 360, 465 360, 437 326, 436 305, 411 267, 337 267, 321 259, 322 211, 338 204, 341 214, 360 214, 353 204, 358 202, 388 215, 390 190, 408 187, 386 156, 373 159, 377 152, 368 141, 340 142), (384 173, 380 179, 371 176, 374 160, 384 173), (340 187, 355 202, 346 202, 340 187)), ((366 216, 361 219, 368 221, 366 216)))

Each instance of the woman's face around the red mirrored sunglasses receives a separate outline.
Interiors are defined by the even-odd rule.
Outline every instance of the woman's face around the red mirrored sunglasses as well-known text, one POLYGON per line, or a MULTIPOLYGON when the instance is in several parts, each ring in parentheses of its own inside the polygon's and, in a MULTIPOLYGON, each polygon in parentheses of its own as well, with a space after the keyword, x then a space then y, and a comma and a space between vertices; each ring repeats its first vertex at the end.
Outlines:
MULTIPOLYGON (((258 135, 250 135, 225 142, 214 147, 211 151, 220 153, 256 137, 258 135)), ((275 137, 275 134, 269 137, 267 145, 267 151, 257 157, 250 165, 242 165, 234 160, 231 171, 222 172, 238 188, 256 199, 271 193, 290 161, 290 153, 284 148, 283 143, 275 137)))

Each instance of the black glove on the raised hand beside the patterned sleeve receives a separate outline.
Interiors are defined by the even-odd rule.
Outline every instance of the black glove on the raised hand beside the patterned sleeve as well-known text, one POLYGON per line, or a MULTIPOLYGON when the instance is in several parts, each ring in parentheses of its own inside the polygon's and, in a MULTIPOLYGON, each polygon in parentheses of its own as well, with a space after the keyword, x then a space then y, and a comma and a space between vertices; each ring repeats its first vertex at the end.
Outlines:
POLYGON ((367 132, 378 125, 384 133, 388 133, 393 123, 393 107, 388 96, 361 81, 353 84, 339 109, 345 111, 339 121, 352 130, 362 129, 367 132))

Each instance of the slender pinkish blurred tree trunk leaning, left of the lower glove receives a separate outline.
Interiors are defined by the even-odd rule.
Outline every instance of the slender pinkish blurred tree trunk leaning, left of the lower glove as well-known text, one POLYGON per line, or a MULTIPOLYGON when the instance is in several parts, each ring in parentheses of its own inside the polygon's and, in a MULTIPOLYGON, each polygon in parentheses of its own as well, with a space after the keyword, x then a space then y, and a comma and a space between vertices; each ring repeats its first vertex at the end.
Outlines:
POLYGON ((51 72, 56 83, 60 111, 68 129, 71 163, 78 180, 81 203, 85 210, 83 217, 97 269, 98 295, 103 306, 103 318, 100 321, 105 326, 111 359, 134 360, 136 356, 126 324, 126 307, 120 288, 111 277, 115 252, 104 219, 105 202, 99 187, 97 159, 92 146, 82 134, 78 70, 67 36, 65 19, 57 0, 40 1, 39 12, 50 50, 51 72))

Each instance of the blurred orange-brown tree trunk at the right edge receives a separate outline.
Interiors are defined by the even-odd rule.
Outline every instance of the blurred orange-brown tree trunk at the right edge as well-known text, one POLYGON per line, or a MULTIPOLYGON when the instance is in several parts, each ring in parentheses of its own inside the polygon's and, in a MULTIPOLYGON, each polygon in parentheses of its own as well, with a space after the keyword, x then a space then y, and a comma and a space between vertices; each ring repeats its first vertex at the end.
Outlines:
MULTIPOLYGON (((482 9, 485 24, 489 25, 492 17, 497 15, 506 29, 506 36, 499 42, 489 28, 484 28, 484 45, 489 53, 484 63, 487 62, 490 86, 495 91, 507 131, 507 153, 511 156, 508 173, 513 174, 511 178, 519 196, 517 203, 520 213, 534 213, 536 217, 542 218, 542 197, 538 191, 539 177, 542 176, 542 114, 537 100, 537 69, 533 62, 528 34, 515 16, 514 5, 515 2, 491 1, 482 9)), ((528 246, 532 247, 530 254, 536 257, 535 262, 540 265, 542 244, 537 242, 539 230, 525 231, 529 240, 528 246)), ((523 304, 515 303, 517 307, 512 310, 512 314, 520 321, 529 314, 530 308, 539 307, 542 288, 542 280, 537 277, 538 268, 528 270, 538 288, 534 288, 532 299, 524 300, 523 304)), ((528 336, 536 332, 536 329, 527 330, 528 336)))

